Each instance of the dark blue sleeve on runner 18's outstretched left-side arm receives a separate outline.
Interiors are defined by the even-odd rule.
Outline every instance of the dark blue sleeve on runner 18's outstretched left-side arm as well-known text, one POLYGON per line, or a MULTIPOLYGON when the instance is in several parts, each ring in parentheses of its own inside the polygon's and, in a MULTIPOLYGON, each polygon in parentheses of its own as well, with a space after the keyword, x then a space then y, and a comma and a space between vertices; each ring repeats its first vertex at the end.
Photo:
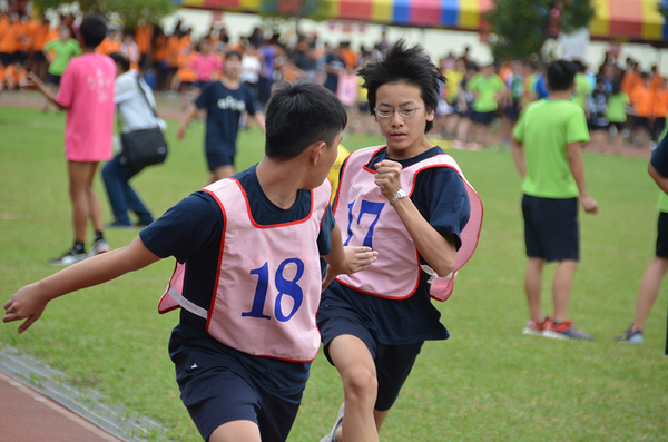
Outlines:
POLYGON ((157 256, 174 256, 179 263, 185 263, 195 253, 210 246, 212 242, 219 242, 222 232, 223 213, 218 204, 207 193, 197 191, 144 228, 139 237, 157 256))

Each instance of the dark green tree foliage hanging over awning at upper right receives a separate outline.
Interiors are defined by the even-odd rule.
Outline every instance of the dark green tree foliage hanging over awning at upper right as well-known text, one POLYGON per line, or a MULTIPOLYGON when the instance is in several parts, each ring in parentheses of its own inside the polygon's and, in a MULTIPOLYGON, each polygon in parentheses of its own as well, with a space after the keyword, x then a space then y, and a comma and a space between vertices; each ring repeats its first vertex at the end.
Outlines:
POLYGON ((591 0, 493 1, 485 19, 495 36, 491 49, 497 60, 540 57, 548 39, 584 28, 593 17, 591 0))

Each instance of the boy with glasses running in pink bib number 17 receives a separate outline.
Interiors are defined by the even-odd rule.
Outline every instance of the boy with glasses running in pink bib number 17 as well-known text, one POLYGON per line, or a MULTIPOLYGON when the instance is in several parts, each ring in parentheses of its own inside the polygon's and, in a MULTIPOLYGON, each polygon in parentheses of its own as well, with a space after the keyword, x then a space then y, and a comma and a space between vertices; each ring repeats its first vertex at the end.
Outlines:
POLYGON ((360 76, 387 145, 347 157, 333 206, 344 244, 379 259, 323 292, 317 326, 344 406, 322 442, 379 440, 424 341, 449 337, 431 297, 448 298, 482 222, 475 190, 425 137, 444 81, 429 57, 399 41, 360 76))

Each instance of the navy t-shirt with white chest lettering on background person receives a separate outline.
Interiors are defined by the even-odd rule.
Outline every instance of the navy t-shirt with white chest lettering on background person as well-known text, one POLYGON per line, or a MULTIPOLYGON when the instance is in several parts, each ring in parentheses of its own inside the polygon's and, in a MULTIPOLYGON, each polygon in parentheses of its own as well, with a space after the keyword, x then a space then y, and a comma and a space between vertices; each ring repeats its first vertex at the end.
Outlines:
POLYGON ((220 81, 209 82, 195 100, 195 106, 206 109, 206 151, 223 150, 234 156, 242 112, 246 110, 248 115, 255 115, 250 87, 242 84, 238 89, 230 90, 220 81))

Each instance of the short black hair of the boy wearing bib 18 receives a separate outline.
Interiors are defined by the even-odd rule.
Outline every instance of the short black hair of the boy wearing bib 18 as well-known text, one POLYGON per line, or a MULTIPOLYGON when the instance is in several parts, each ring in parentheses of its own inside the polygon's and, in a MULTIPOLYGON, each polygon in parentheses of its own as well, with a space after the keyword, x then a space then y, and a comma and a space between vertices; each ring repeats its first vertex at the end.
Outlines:
POLYGON ((265 155, 292 159, 320 140, 336 148, 334 139, 346 125, 345 108, 324 86, 304 80, 281 82, 267 102, 265 155))

